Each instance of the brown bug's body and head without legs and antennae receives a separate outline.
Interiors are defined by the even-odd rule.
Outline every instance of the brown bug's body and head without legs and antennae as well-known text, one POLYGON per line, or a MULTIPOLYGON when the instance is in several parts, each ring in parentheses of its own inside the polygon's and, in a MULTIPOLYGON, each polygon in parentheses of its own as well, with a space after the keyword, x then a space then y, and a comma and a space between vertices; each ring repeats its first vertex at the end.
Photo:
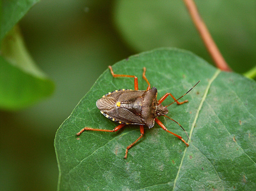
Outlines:
POLYGON ((168 109, 157 101, 157 89, 149 91, 122 89, 97 100, 97 108, 107 118, 122 124, 147 125, 152 128, 155 118, 166 115, 168 109))

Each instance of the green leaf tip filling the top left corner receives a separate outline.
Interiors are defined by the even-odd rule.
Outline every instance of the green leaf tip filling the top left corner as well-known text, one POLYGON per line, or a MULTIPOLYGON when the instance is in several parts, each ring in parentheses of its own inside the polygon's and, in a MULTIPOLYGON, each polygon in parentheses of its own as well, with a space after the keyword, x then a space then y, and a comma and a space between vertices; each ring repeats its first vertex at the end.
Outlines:
POLYGON ((39 0, 2 0, 0 12, 0 41, 39 0))

